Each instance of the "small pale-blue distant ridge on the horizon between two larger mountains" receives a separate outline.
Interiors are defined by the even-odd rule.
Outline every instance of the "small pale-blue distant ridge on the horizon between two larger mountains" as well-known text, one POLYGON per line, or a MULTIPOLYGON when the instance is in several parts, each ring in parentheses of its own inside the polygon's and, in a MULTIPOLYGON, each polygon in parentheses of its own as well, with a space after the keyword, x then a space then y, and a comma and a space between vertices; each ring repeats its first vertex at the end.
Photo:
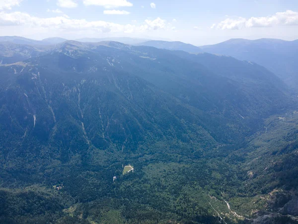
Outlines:
POLYGON ((189 53, 200 53, 202 49, 197 46, 186 44, 180 41, 162 41, 162 40, 150 40, 146 42, 139 43, 138 45, 144 45, 149 47, 156 47, 167 50, 179 50, 186 51, 189 53))

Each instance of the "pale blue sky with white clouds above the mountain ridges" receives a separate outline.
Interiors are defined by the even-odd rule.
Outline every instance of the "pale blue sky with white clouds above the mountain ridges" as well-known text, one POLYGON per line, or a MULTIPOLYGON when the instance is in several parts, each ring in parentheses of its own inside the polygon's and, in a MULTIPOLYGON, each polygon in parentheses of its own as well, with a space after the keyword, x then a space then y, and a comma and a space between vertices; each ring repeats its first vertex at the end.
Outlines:
POLYGON ((298 39, 298 0, 0 0, 0 36, 298 39))

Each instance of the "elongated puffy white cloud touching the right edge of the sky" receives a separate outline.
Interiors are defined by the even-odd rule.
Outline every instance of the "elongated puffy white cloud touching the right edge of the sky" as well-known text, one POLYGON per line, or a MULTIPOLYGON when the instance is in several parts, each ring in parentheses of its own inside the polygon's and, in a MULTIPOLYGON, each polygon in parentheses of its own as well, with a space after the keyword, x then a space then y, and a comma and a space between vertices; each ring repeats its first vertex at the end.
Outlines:
POLYGON ((287 10, 285 12, 277 12, 272 16, 266 17, 251 17, 249 19, 226 18, 217 26, 212 25, 212 28, 218 29, 243 29, 250 27, 269 27, 275 25, 298 25, 298 12, 287 10))

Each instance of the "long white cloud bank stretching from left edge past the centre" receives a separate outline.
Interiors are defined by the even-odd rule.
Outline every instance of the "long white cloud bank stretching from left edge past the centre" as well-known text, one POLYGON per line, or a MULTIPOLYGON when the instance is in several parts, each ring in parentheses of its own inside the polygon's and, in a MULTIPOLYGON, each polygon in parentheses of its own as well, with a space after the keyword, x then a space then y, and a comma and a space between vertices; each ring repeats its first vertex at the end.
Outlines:
MULTIPOLYGON (((34 28, 35 30, 42 30, 44 32, 89 32, 94 31, 96 33, 132 33, 132 32, 144 32, 150 30, 171 30, 170 24, 166 23, 166 20, 156 18, 154 20, 146 19, 140 26, 132 24, 117 24, 106 21, 87 21, 85 19, 70 19, 67 15, 40 18, 31 16, 23 12, 11 12, 6 13, 0 11, 0 26, 21 26, 22 28, 34 28)), ((13 28, 15 29, 15 28, 13 28)), ((20 28, 21 29, 21 28, 20 28)))

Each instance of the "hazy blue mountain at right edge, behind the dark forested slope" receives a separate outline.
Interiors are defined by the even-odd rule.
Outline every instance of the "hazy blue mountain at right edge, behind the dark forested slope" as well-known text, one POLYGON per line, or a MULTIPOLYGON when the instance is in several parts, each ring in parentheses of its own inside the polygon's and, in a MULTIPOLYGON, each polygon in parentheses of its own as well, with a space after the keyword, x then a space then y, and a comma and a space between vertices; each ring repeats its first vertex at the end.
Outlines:
POLYGON ((223 54, 265 66, 292 88, 298 86, 298 41, 230 39, 201 46, 205 52, 223 54))

